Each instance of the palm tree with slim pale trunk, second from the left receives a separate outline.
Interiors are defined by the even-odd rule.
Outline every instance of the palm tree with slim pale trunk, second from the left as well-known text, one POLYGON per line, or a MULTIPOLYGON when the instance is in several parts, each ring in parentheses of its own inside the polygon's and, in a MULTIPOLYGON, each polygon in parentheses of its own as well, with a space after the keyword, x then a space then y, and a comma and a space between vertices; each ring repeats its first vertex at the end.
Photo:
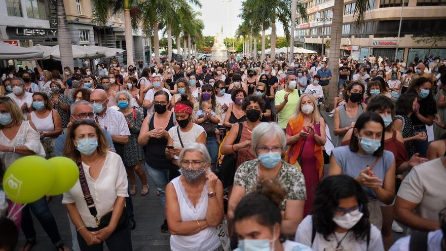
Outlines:
POLYGON ((96 23, 104 26, 108 22, 108 11, 113 9, 113 14, 124 9, 125 41, 127 50, 127 65, 132 65, 133 60, 133 34, 132 28, 137 27, 139 17, 138 0, 92 0, 93 16, 96 23))

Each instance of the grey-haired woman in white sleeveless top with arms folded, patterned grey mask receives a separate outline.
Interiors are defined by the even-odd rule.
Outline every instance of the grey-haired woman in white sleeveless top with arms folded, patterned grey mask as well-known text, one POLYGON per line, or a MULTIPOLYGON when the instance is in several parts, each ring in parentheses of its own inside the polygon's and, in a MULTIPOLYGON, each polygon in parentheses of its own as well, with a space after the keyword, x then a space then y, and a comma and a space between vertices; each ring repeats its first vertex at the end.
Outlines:
POLYGON ((223 186, 210 171, 206 146, 185 146, 178 162, 181 175, 166 187, 171 250, 224 250, 215 229, 224 218, 223 186))

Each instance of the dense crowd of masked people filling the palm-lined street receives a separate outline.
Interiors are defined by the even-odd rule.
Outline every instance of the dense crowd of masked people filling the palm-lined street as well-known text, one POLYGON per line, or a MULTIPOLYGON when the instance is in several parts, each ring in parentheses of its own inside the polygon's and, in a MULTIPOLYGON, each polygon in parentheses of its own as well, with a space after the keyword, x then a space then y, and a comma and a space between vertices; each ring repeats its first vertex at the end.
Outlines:
MULTIPOLYGON (((35 64, 0 82, 0 178, 27 155, 75 161, 62 199, 73 250, 132 250, 146 173, 174 251, 446 250, 446 59, 35 64)), ((32 249, 32 212, 68 250, 49 199, 0 218, 0 249, 19 229, 32 249)))

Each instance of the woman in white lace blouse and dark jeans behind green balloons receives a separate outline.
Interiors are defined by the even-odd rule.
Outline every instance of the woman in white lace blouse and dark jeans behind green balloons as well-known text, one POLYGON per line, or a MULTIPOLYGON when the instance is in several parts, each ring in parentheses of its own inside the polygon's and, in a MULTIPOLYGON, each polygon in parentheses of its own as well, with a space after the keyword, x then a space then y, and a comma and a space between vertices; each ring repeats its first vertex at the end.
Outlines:
MULTIPOLYGON (((22 112, 11 98, 0 98, 0 159, 3 160, 6 168, 24 156, 39 155, 45 157, 45 150, 39 140, 40 136, 37 129, 31 121, 23 119, 22 112)), ((24 248, 29 249, 36 244, 36 233, 29 210, 41 222, 56 248, 65 250, 57 230, 56 221, 48 208, 45 197, 28 203, 23 208, 22 230, 26 238, 24 248)))

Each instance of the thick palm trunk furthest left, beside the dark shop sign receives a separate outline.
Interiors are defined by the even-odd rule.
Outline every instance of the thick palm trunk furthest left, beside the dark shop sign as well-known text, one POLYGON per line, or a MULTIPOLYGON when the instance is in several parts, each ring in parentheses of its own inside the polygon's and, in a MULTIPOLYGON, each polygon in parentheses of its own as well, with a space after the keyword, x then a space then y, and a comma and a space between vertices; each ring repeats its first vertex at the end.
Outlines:
POLYGON ((68 66, 73 71, 73 50, 68 32, 68 22, 66 21, 65 6, 62 0, 57 1, 57 41, 60 51, 60 63, 62 67, 68 66))

